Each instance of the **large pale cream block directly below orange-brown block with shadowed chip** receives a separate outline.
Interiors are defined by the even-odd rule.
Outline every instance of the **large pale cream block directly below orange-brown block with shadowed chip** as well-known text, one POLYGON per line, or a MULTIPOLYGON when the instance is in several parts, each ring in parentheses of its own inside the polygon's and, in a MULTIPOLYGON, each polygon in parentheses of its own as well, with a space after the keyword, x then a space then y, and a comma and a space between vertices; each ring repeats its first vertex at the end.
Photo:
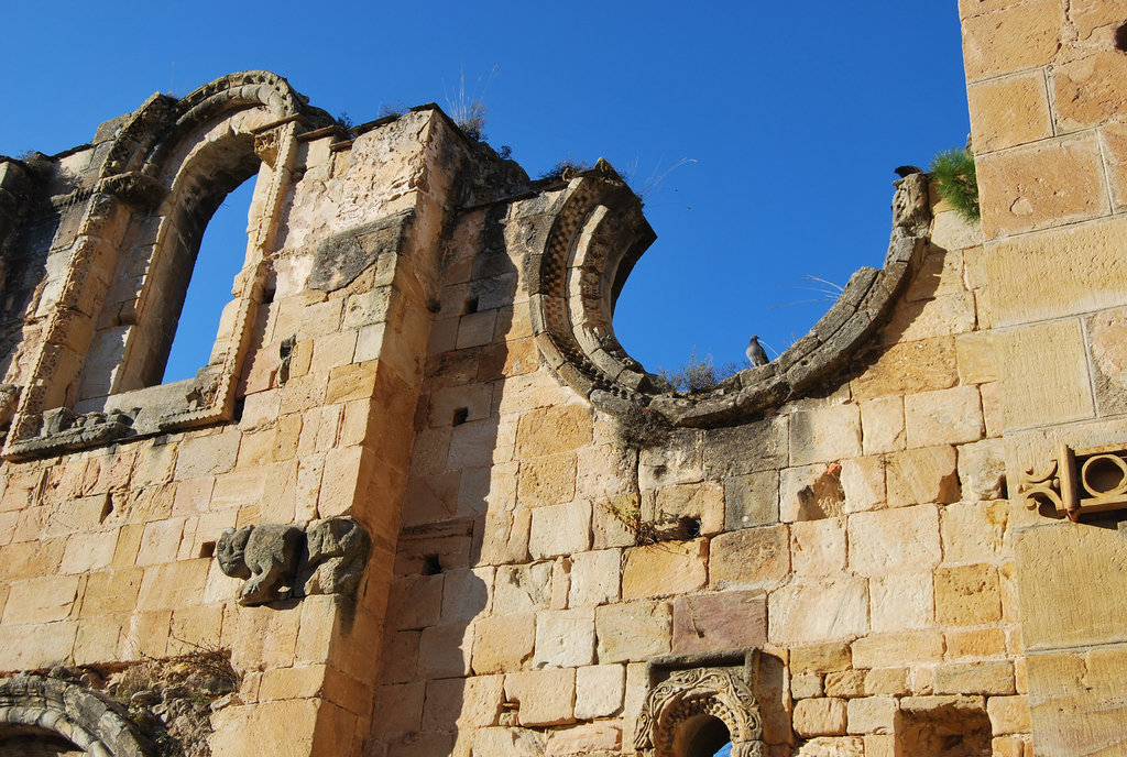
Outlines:
POLYGON ((938 564, 942 551, 935 507, 916 505, 851 515, 849 555, 853 570, 864 576, 914 572, 938 564))

